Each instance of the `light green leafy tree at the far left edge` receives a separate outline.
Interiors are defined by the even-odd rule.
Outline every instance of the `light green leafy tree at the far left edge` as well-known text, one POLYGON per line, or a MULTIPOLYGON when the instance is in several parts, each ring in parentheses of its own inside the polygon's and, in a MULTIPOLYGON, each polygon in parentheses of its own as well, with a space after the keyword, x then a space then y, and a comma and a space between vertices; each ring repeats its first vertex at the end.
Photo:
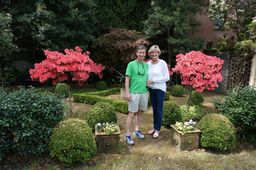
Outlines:
POLYGON ((12 18, 10 14, 0 12, 0 88, 4 86, 3 81, 3 63, 11 60, 12 52, 18 51, 18 46, 12 41, 14 35, 11 29, 12 18))

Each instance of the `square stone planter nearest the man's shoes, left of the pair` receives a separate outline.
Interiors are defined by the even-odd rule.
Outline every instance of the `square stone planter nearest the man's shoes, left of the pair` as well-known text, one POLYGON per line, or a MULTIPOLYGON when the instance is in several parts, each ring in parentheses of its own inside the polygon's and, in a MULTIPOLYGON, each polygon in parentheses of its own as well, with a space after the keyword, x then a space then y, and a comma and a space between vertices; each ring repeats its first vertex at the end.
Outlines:
MULTIPOLYGON (((95 129, 97 125, 95 125, 95 129)), ((106 152, 117 152, 118 145, 120 140, 120 128, 117 124, 118 131, 113 133, 98 133, 95 130, 95 141, 97 143, 98 153, 106 153, 106 152)))

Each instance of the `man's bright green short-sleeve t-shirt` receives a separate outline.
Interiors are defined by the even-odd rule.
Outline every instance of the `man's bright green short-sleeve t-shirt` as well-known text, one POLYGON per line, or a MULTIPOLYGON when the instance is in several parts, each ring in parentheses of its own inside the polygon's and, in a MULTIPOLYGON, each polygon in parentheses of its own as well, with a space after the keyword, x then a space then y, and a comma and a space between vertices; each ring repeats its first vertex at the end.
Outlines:
POLYGON ((137 65, 137 60, 134 60, 128 64, 126 69, 125 75, 130 76, 130 82, 129 82, 130 93, 147 92, 146 81, 147 81, 148 64, 143 61, 143 64, 138 62, 138 65, 137 65), (144 75, 140 75, 138 73, 138 65, 139 65, 140 74, 145 73, 144 75))

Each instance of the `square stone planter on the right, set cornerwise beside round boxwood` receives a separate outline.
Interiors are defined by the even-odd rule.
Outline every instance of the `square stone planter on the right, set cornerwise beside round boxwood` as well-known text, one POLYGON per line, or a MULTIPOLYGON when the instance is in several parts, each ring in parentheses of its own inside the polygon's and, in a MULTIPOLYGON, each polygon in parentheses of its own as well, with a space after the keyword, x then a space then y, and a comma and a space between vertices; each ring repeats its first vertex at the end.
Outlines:
POLYGON ((181 132, 175 125, 171 125, 172 143, 181 151, 198 148, 200 133, 201 131, 197 128, 195 131, 181 132))

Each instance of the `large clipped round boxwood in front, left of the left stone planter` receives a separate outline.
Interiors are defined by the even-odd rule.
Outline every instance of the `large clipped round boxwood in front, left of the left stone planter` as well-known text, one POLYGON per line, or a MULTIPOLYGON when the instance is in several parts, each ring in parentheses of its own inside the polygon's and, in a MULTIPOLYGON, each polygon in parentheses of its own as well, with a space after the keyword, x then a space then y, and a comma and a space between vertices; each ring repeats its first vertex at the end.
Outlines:
POLYGON ((78 118, 68 118, 57 124, 49 146, 52 157, 68 164, 75 161, 87 163, 97 152, 91 128, 78 118))

